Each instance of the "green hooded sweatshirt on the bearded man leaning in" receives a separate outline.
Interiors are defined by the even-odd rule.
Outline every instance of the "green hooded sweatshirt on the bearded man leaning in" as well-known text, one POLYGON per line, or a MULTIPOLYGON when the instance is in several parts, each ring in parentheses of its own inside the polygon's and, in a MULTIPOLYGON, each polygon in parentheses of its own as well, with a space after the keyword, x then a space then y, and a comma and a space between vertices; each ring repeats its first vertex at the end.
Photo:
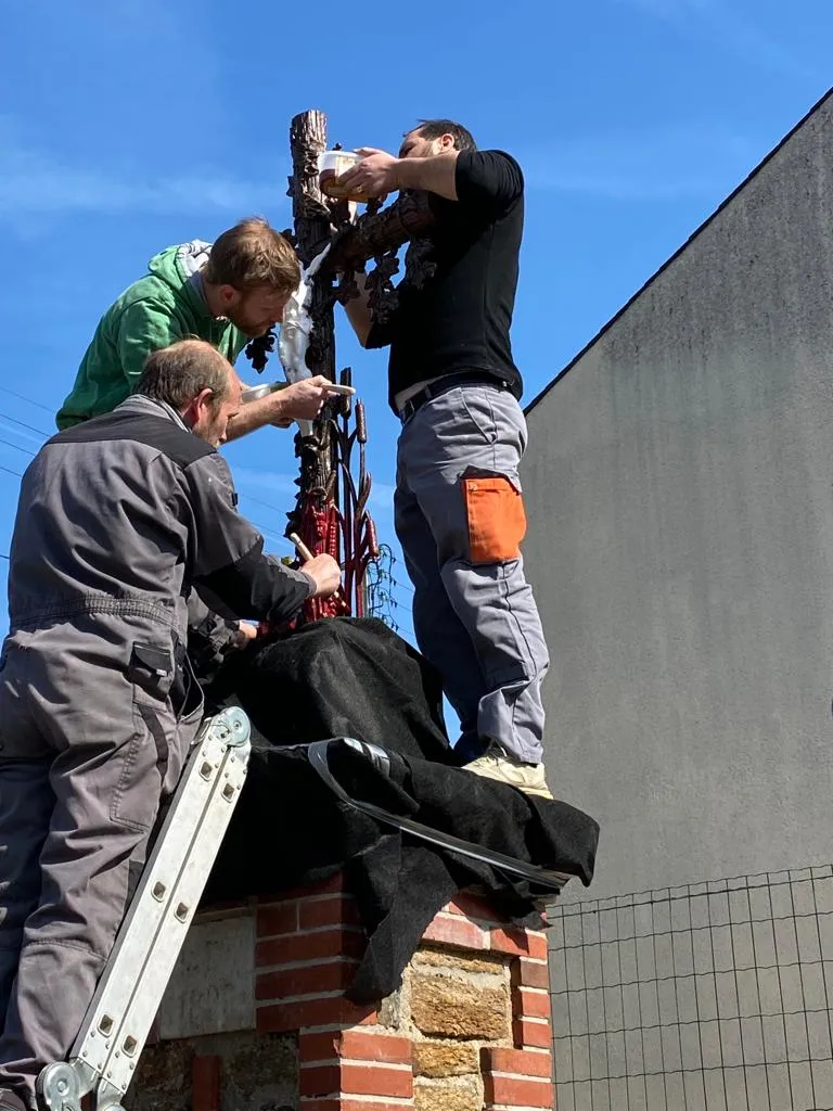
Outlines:
POLYGON ((234 362, 249 338, 229 320, 211 316, 194 279, 210 249, 200 239, 168 247, 150 260, 150 272, 110 306, 56 417, 59 429, 111 412, 132 393, 148 356, 177 340, 208 340, 234 362))

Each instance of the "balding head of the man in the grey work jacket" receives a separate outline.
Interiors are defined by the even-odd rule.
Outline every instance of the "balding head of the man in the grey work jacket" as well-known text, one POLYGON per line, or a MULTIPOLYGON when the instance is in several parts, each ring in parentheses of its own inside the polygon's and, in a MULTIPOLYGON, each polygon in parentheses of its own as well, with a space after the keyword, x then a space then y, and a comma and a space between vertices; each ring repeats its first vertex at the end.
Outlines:
POLYGON ((219 446, 240 408, 241 383, 217 348, 204 340, 180 340, 148 356, 136 392, 167 402, 194 436, 219 446))

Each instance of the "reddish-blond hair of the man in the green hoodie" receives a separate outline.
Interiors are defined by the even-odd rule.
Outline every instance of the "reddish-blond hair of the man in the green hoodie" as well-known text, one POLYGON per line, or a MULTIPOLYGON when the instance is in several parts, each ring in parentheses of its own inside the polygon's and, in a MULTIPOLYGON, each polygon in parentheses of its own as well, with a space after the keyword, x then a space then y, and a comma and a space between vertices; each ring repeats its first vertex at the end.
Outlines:
POLYGON ((291 293, 301 281, 301 268, 283 236, 262 217, 250 217, 218 236, 202 276, 212 286, 232 286, 241 292, 269 286, 291 293))

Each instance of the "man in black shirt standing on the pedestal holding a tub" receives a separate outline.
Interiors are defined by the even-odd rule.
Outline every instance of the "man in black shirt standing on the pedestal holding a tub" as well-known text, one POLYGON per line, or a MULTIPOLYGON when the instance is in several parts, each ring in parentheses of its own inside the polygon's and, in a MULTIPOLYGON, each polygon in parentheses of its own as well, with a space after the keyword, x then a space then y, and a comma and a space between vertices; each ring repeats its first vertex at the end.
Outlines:
POLYGON ((368 197, 424 190, 435 219, 409 247, 389 323, 373 322, 367 290, 347 302, 360 342, 391 349, 389 400, 403 426, 395 524, 416 640, 460 717, 459 750, 474 757, 466 767, 552 798, 542 763, 549 660, 520 552, 526 424, 509 338, 523 176, 451 120, 410 131, 398 158, 360 153, 340 183, 368 197))

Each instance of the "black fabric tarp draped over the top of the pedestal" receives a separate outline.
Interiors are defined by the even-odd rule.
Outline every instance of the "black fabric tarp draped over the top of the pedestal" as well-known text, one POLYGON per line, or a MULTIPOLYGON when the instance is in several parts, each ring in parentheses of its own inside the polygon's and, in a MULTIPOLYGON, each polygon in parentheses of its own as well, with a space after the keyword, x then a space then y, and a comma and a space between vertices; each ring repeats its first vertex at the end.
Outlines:
POLYGON ((398 987, 425 928, 458 891, 476 887, 524 922, 548 889, 359 813, 323 782, 304 745, 341 737, 377 744, 391 757, 389 773, 331 745, 332 771, 351 798, 584 883, 592 878, 593 819, 456 767, 435 673, 381 621, 331 618, 255 643, 208 693, 241 705, 261 737, 203 903, 274 895, 345 869, 369 938, 348 992, 355 1002, 398 987))

